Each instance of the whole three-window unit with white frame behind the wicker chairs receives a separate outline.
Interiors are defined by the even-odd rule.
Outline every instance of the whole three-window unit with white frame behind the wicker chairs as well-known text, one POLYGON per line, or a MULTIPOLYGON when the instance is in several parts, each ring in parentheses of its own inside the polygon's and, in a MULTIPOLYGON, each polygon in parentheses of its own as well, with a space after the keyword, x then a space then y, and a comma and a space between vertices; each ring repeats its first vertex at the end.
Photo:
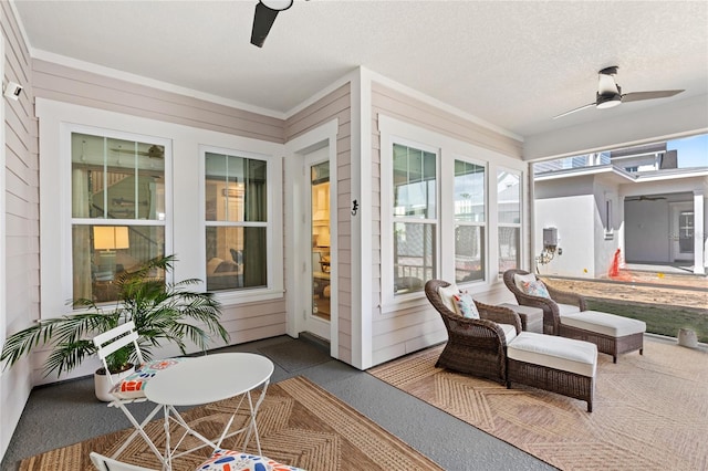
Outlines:
POLYGON ((428 280, 481 293, 520 266, 527 163, 385 115, 378 130, 383 314, 425 303, 428 280))

